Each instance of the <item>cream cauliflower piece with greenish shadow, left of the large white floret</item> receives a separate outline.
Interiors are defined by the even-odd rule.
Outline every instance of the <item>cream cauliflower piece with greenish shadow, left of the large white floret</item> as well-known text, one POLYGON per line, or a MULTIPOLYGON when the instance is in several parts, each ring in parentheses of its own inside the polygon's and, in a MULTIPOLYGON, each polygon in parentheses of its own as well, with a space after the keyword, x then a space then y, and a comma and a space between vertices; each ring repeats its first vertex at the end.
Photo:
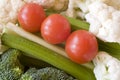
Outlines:
POLYGON ((66 15, 70 17, 84 17, 85 13, 88 12, 88 5, 94 0, 69 0, 68 9, 66 15), (76 10, 77 8, 81 9, 76 10))

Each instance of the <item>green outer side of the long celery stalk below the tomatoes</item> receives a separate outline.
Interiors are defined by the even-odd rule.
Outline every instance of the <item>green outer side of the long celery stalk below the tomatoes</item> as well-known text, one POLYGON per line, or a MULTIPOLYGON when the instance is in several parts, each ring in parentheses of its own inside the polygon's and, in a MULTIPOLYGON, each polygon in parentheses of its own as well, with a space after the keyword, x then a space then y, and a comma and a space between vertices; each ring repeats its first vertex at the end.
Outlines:
POLYGON ((4 33, 2 35, 2 43, 12 48, 19 49, 25 52, 26 55, 50 63, 51 65, 66 71, 78 80, 95 80, 95 76, 91 69, 76 64, 68 58, 59 55, 55 51, 45 48, 21 36, 4 33))

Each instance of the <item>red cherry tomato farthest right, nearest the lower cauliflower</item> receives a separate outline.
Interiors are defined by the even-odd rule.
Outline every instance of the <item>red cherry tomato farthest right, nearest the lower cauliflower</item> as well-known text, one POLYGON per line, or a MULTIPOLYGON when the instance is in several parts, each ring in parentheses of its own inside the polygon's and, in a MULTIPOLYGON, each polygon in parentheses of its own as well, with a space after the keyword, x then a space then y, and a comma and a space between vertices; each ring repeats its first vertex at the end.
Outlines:
POLYGON ((68 37, 65 51, 72 61, 80 64, 87 63, 98 52, 96 37, 88 31, 77 30, 68 37))

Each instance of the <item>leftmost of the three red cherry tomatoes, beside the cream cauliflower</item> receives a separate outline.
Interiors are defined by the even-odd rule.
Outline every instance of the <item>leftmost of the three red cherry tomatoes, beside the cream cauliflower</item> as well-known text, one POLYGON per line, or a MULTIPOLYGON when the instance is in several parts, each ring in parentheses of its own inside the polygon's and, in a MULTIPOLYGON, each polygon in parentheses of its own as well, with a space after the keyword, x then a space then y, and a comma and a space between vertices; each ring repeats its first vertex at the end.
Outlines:
POLYGON ((18 13, 20 25, 29 32, 38 32, 45 18, 42 6, 35 3, 25 4, 18 13))

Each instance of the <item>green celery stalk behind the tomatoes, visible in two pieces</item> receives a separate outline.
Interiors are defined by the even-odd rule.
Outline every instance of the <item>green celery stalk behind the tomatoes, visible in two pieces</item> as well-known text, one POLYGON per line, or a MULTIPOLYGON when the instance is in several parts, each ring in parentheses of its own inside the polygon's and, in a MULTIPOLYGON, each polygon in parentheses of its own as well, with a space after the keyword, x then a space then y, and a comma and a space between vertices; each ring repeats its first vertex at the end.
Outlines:
MULTIPOLYGON (((89 30, 89 24, 75 18, 66 17, 72 25, 72 30, 89 30), (81 25, 80 25, 81 24, 81 25)), ((120 44, 117 42, 104 42, 97 38, 99 51, 108 52, 111 56, 120 59, 120 44)))

